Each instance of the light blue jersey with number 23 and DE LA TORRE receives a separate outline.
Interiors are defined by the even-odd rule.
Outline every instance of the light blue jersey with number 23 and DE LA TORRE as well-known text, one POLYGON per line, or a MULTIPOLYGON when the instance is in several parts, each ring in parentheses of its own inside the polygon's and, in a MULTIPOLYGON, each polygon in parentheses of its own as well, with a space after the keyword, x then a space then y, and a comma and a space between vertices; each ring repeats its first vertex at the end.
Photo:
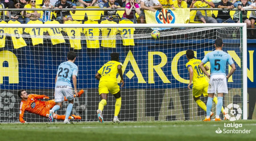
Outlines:
POLYGON ((58 78, 57 78, 55 87, 56 86, 71 87, 70 80, 72 79, 73 75, 77 76, 77 73, 78 73, 78 67, 74 63, 70 61, 61 63, 58 67, 58 71, 57 71, 58 78))

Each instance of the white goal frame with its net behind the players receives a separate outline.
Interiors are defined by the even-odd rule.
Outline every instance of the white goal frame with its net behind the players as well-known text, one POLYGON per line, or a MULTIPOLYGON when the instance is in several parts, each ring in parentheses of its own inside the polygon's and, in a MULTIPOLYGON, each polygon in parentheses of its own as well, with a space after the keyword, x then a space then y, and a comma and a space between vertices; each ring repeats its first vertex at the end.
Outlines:
MULTIPOLYGON (((241 106, 240 119, 247 119, 246 36, 245 23, 0 24, 0 38, 6 40, 5 47, 0 48, 0 62, 3 64, 3 67, 0 66, 0 123, 19 122, 21 99, 18 98, 17 91, 20 89, 27 90, 28 94, 54 98, 57 67, 66 61, 66 54, 70 50, 77 53, 77 88, 84 90, 80 98, 75 98, 71 112, 80 115, 80 121, 97 120, 99 82, 94 75, 104 63, 110 61, 109 55, 112 52, 120 53, 119 59, 123 63, 125 87, 120 87, 122 105, 118 115, 121 121, 202 120, 206 112, 195 103, 192 90, 187 88, 189 75, 185 67, 185 51, 192 49, 195 57, 202 60, 208 52, 214 50, 216 38, 223 39, 223 50, 231 54, 237 68, 228 81, 229 94, 224 95, 223 107, 234 102, 241 106), (16 28, 17 31, 9 30, 11 28, 16 28), (26 28, 35 35, 26 33, 29 32, 26 28), (68 34, 67 31, 71 28, 74 31, 68 34), (97 28, 98 32, 87 31, 89 28, 97 28), (153 40, 151 32, 158 28, 166 29, 160 30, 160 38, 153 40), (5 32, 7 29, 9 32, 5 32), (22 32, 18 29, 22 29, 22 32), (112 34, 113 29, 115 34, 112 34), (50 30, 54 34, 50 34, 50 30), (122 30, 125 32, 121 33, 122 30), (81 34, 76 34, 77 31, 81 34), (57 36, 57 33, 62 36, 57 36), (128 34, 130 35, 127 36, 128 34), (15 48, 13 37, 24 39, 22 43, 26 45, 15 48), (40 39, 43 39, 43 43, 34 45, 40 39), (129 45, 125 45, 123 39, 127 39, 129 45), (96 40, 99 41, 96 45, 93 44, 95 42, 90 42, 96 40)), ((22 44, 19 42, 21 41, 18 41, 18 45, 22 44)), ((228 70, 227 65, 226 72, 228 70)), ((120 82, 119 76, 117 82, 120 82)), ((207 100, 201 98, 202 101, 207 100)), ((107 103, 103 118, 111 121, 115 108, 115 98, 111 94, 108 95, 107 103)), ((66 107, 67 102, 63 102, 63 107, 57 114, 64 115, 66 107)), ((215 112, 214 106, 212 111, 215 112)), ((45 117, 28 112, 25 112, 24 120, 48 121, 45 117)))

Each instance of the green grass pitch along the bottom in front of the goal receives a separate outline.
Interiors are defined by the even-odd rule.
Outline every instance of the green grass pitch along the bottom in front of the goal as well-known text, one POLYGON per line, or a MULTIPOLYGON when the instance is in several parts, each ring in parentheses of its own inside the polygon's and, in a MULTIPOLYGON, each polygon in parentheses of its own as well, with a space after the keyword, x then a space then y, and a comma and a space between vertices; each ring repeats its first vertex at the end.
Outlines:
POLYGON ((1 123, 0 138, 35 141, 250 141, 256 140, 256 120, 239 121, 149 121, 149 122, 73 122, 63 123, 1 123), (242 127, 224 127, 224 123, 242 127), (251 130, 249 134, 217 134, 220 128, 251 130))

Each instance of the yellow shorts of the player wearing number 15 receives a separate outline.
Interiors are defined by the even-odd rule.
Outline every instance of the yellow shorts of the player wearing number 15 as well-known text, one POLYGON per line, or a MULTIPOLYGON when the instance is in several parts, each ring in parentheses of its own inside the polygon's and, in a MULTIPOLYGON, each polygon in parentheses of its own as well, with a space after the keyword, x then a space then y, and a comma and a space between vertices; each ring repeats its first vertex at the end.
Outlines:
POLYGON ((99 94, 116 94, 120 91, 117 82, 101 81, 99 84, 99 94))

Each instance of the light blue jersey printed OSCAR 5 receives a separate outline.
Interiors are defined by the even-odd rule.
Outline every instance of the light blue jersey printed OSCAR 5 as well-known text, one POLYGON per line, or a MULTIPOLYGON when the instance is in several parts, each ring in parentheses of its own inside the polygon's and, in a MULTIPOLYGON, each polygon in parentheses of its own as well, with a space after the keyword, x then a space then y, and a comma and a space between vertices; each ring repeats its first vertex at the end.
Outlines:
POLYGON ((232 57, 222 50, 215 50, 207 53, 202 62, 207 63, 208 61, 211 66, 211 76, 216 74, 223 74, 226 76, 227 62, 229 65, 234 64, 232 57))

